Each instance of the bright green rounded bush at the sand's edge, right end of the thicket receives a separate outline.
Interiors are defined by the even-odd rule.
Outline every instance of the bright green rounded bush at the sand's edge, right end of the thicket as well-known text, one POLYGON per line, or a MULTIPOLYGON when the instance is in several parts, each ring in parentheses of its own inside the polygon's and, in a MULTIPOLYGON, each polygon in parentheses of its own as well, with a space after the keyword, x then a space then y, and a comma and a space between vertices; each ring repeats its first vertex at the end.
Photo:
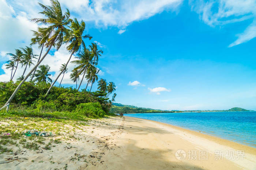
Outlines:
POLYGON ((102 110, 102 107, 98 102, 80 103, 76 106, 75 112, 91 118, 103 117, 105 115, 105 111, 102 110))

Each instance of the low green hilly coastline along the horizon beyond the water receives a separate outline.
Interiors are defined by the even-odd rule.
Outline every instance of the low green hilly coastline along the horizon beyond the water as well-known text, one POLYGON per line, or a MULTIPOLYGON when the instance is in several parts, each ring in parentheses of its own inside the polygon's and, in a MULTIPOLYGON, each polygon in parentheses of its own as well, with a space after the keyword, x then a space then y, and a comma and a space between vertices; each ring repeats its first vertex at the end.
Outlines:
POLYGON ((132 105, 125 105, 121 103, 112 103, 112 107, 110 108, 111 113, 174 113, 174 112, 214 112, 214 111, 253 111, 246 110, 240 107, 233 107, 229 110, 159 110, 153 108, 144 108, 144 107, 136 107, 132 105))

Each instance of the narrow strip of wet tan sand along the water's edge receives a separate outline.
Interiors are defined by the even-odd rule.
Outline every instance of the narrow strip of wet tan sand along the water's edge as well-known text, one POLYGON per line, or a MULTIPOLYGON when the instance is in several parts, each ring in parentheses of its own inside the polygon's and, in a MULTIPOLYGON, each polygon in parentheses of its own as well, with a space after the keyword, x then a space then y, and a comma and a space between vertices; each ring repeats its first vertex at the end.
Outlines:
MULTIPOLYGON (((127 117, 130 117, 130 116, 127 116, 127 117)), ((134 117, 130 117, 130 118, 134 118, 134 117)), ((228 139, 223 139, 223 138, 220 138, 220 137, 215 136, 215 135, 204 134, 204 133, 200 133, 200 132, 195 131, 195 130, 186 129, 184 127, 176 126, 176 125, 173 125, 173 124, 157 122, 155 120, 148 120, 148 119, 143 119, 143 118, 135 118, 135 119, 142 119, 142 120, 147 120, 147 121, 150 121, 150 122, 162 124, 164 126, 170 126, 170 127, 174 128, 174 129, 178 129, 180 131, 185 131, 187 133, 190 133, 192 135, 196 135, 198 137, 203 137, 203 138, 206 138, 206 139, 210 139, 211 141, 214 141, 214 142, 216 142, 216 143, 218 143, 220 145, 229 145, 229 146, 234 147, 234 149, 246 150, 247 153, 255 154, 256 155, 256 148, 255 147, 251 147, 251 146, 248 146, 248 145, 244 145, 244 144, 241 144, 241 143, 230 141, 228 139)))

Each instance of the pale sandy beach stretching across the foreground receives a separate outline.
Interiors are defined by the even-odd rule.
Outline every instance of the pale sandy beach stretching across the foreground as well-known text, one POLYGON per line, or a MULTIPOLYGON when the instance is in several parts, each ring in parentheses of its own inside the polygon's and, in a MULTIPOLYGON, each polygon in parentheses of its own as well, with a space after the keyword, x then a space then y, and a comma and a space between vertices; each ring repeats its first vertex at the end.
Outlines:
POLYGON ((1 154, 0 169, 256 169, 255 148, 165 123, 111 116, 64 126, 72 130, 53 137, 61 143, 12 146, 18 152, 1 154))

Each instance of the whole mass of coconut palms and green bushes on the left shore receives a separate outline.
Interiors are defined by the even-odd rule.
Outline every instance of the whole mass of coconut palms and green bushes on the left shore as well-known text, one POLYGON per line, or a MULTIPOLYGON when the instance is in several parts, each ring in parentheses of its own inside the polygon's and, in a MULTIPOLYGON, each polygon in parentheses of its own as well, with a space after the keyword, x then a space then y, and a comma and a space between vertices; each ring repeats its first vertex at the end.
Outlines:
POLYGON ((62 112, 60 114, 63 115, 64 112, 68 112, 87 117, 104 116, 109 112, 111 103, 116 97, 114 93, 112 101, 109 100, 109 95, 116 90, 116 86, 113 82, 108 83, 102 78, 98 81, 97 74, 100 70, 97 65, 103 51, 98 49, 96 43, 86 47, 84 40, 93 38, 84 33, 86 24, 83 20, 71 19, 69 10, 62 11, 58 0, 50 0, 50 5, 39 3, 39 6, 42 8, 39 13, 44 18, 31 19, 39 24, 37 31, 33 31, 31 44, 15 49, 14 53, 7 53, 11 59, 5 66, 11 70, 11 77, 10 82, 0 82, 0 104, 4 106, 10 103, 10 111, 18 115, 23 108, 25 115, 47 112, 51 115, 52 112, 55 115, 57 112, 62 112), (50 50, 53 48, 59 50, 63 44, 70 56, 66 63, 59 66, 60 72, 56 73, 56 79, 52 80, 49 65, 40 65, 40 63, 50 50), (41 49, 39 55, 34 54, 31 47, 33 45, 41 49), (46 52, 42 54, 44 48, 46 52), (73 61, 71 61, 72 56, 75 56, 73 61), (70 62, 75 64, 70 79, 76 84, 76 88, 61 87, 70 62), (34 67, 26 73, 31 66, 34 67), (22 74, 16 72, 18 67, 23 68, 22 74), (20 74, 16 82, 14 82, 15 74, 20 74), (54 85, 59 77, 61 81, 56 87, 54 85), (86 88, 79 91, 83 80, 87 81, 86 88), (98 91, 91 92, 96 82, 98 82, 98 91), (91 87, 87 90, 89 83, 91 87))

